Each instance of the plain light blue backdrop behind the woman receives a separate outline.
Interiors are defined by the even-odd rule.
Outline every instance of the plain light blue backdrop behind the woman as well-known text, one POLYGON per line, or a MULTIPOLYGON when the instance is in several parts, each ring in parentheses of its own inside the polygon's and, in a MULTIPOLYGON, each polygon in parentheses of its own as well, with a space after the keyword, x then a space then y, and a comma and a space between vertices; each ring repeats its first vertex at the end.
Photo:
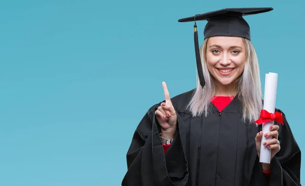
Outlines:
MULTIPOLYGON (((305 69, 302 1, 4 1, 0 3, 0 185, 120 185, 146 110, 195 87, 193 23, 231 7, 247 16, 277 107, 301 148, 305 69)), ((206 22, 198 22, 200 45, 206 22)), ((304 159, 304 155, 302 155, 304 159)), ((301 180, 305 179, 304 166, 301 180)))

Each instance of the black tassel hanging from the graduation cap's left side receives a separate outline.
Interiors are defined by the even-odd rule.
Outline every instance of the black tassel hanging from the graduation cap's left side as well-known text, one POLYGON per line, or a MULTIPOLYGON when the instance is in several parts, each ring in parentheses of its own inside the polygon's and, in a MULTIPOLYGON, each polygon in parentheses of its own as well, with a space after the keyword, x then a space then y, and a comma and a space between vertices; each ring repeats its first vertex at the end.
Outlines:
POLYGON ((195 43, 195 54, 196 54, 196 63, 197 63, 199 82, 200 82, 201 87, 204 88, 205 80, 203 77, 203 71, 202 71, 202 65, 201 65, 201 59, 200 59, 199 44, 198 44, 198 31, 197 31, 196 21, 194 24, 194 43, 195 43))

